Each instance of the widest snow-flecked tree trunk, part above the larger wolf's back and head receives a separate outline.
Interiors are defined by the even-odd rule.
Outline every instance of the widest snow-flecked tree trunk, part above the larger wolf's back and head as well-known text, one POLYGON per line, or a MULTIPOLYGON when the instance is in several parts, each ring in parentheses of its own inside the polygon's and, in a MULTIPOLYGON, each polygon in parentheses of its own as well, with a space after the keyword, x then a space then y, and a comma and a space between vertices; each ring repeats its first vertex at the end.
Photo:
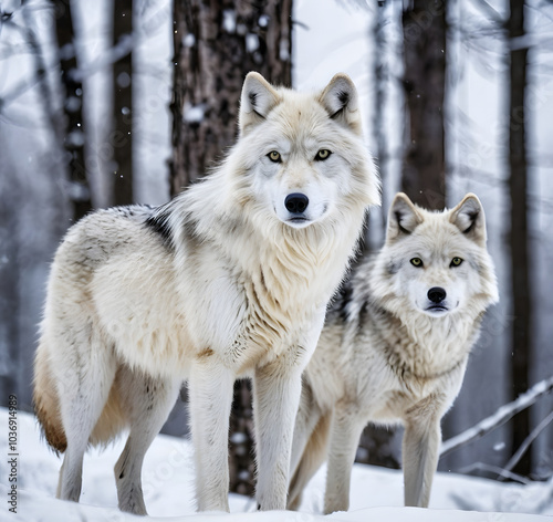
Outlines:
POLYGON ((174 12, 173 195, 234 142, 248 72, 290 86, 292 0, 175 0, 174 12))

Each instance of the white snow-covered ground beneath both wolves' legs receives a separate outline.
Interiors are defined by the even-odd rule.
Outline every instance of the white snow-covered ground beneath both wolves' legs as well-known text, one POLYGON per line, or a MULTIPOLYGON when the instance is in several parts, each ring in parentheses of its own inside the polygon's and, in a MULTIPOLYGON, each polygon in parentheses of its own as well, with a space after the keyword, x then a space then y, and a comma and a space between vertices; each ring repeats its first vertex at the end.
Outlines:
MULTIPOLYGON (((0 409, 1 459, 0 494, 8 495, 7 467, 8 411, 0 409)), ((18 414, 18 501, 17 514, 10 513, 6 500, 0 520, 15 521, 109 521, 145 520, 117 510, 113 466, 123 449, 119 440, 104 451, 93 450, 85 457, 81 503, 54 498, 61 460, 41 440, 33 416, 18 414)), ((158 436, 146 455, 143 487, 147 520, 191 522, 311 522, 311 521, 386 521, 386 522, 520 522, 547 521, 553 515, 553 481, 530 486, 502 484, 495 481, 438 473, 430 509, 401 507, 401 474, 397 471, 356 464, 352 478, 351 509, 347 513, 321 515, 324 473, 322 469, 310 483, 302 511, 255 512, 254 503, 230 495, 231 514, 195 513, 194 459, 187 440, 158 436), (468 510, 468 511, 467 511, 468 510), (526 513, 541 513, 526 514, 526 513)))

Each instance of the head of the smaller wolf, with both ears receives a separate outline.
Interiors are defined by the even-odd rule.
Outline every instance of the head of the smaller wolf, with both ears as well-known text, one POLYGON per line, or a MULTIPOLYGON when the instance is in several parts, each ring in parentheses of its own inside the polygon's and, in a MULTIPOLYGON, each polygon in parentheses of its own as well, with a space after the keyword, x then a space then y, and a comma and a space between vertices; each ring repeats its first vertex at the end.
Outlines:
POLYGON ((424 210, 398 194, 373 291, 399 316, 442 317, 468 309, 478 315, 498 301, 486 240, 484 211, 473 194, 441 212, 424 210))

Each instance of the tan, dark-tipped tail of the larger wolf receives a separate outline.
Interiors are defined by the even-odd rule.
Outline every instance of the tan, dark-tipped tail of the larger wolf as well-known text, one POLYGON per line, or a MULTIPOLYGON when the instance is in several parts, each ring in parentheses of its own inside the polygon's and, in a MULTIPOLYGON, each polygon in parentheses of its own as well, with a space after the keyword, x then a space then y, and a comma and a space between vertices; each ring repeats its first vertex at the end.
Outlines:
POLYGON ((60 414, 60 397, 50 368, 48 349, 42 341, 34 358, 33 403, 48 443, 55 451, 63 453, 67 439, 60 414))

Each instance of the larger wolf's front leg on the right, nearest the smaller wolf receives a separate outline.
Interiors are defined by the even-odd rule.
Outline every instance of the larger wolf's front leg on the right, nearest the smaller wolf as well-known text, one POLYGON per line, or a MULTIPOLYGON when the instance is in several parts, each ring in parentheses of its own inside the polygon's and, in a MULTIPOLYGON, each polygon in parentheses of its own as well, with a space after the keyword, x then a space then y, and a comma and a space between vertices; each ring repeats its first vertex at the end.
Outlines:
POLYGON ((255 369, 255 497, 262 510, 286 508, 290 453, 301 394, 301 369, 290 361, 276 361, 255 369))

